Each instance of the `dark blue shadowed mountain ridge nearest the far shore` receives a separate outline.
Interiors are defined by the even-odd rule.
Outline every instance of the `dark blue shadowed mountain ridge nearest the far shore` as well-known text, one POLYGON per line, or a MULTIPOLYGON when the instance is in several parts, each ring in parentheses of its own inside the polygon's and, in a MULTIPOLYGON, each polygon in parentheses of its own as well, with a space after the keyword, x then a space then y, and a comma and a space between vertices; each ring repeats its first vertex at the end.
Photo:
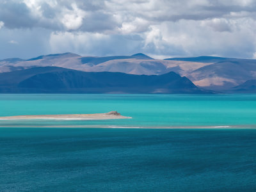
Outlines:
POLYGON ((161 76, 36 67, 0 74, 0 93, 212 93, 175 72, 161 76))

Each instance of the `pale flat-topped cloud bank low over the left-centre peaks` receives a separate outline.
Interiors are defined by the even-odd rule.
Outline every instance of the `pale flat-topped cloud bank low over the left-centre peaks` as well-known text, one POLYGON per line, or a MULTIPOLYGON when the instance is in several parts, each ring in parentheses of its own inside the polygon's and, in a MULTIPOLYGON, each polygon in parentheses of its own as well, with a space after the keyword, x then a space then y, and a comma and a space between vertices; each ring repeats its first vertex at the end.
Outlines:
POLYGON ((51 33, 52 52, 76 52, 82 55, 106 56, 134 54, 140 49, 140 38, 122 35, 103 35, 90 32, 51 33))

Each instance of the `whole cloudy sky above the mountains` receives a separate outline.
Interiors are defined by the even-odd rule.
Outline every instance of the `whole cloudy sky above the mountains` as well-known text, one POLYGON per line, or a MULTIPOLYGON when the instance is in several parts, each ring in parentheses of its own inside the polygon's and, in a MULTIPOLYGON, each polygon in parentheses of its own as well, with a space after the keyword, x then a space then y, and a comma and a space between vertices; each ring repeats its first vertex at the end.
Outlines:
POLYGON ((254 0, 0 0, 0 59, 256 58, 254 0))

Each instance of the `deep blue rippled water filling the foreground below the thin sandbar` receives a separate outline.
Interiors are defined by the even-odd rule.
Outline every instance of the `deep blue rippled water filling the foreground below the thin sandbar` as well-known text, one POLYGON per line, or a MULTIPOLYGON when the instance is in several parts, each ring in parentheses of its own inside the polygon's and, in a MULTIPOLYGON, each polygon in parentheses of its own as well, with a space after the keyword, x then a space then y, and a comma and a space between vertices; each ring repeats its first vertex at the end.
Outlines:
POLYGON ((255 191, 255 129, 0 129, 0 191, 255 191))

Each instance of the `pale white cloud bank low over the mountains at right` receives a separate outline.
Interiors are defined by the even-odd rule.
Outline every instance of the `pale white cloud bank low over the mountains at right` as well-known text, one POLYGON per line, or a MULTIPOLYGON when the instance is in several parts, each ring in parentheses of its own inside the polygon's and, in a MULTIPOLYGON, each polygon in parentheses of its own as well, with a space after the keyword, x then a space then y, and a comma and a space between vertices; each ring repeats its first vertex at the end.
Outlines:
POLYGON ((205 28, 201 21, 164 22, 158 27, 161 38, 153 38, 153 42, 163 54, 167 50, 172 55, 251 58, 256 50, 255 20, 231 22, 234 27, 228 33, 205 28))

